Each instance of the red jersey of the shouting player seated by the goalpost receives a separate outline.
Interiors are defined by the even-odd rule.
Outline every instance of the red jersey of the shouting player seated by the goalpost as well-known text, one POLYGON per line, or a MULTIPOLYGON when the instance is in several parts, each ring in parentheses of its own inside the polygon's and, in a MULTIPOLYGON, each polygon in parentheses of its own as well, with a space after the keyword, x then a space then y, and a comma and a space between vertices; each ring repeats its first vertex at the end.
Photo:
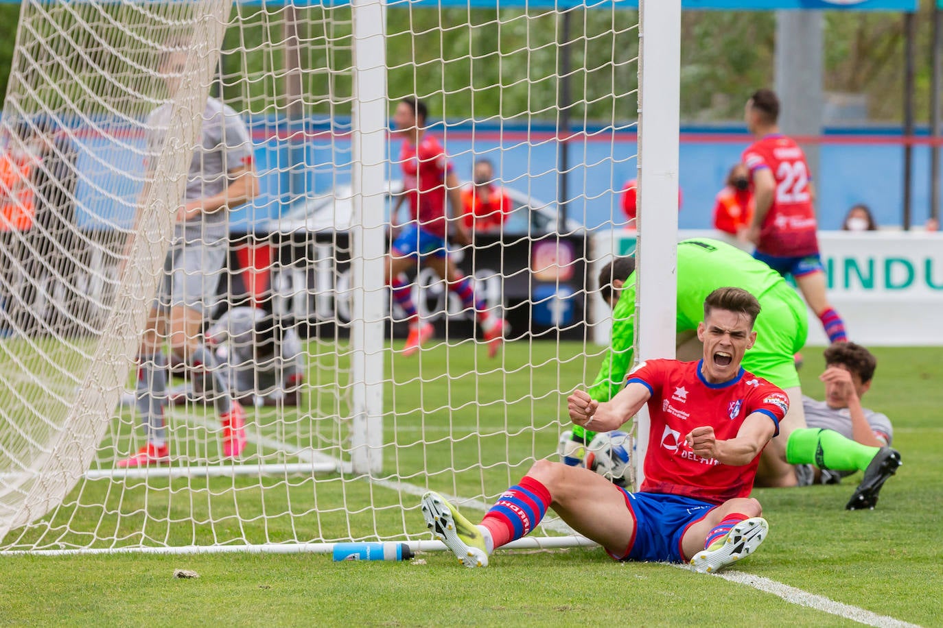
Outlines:
POLYGON ((722 504, 748 497, 759 455, 749 464, 733 466, 697 456, 685 437, 695 427, 710 426, 719 441, 736 437, 748 416, 760 412, 776 424, 789 410, 789 397, 779 387, 742 368, 736 378, 710 384, 701 362, 649 360, 629 375, 652 392, 652 420, 641 491, 670 493, 722 504))

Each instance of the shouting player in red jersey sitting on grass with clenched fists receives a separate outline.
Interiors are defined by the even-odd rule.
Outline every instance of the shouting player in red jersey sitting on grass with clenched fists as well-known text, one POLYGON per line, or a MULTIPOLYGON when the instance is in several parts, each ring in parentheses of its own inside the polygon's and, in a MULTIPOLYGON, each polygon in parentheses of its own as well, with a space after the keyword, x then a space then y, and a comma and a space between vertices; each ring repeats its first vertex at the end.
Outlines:
POLYGON ((570 395, 572 422, 594 431, 617 429, 648 403, 640 491, 542 459, 480 525, 435 492, 422 497, 426 524, 467 567, 487 565, 495 547, 537 527, 548 507, 617 560, 690 561, 698 572, 716 572, 752 554, 769 529, 749 496, 753 476, 789 405, 781 389, 740 366, 759 311, 749 292, 719 288, 704 300, 701 361, 642 362, 608 402, 570 395))

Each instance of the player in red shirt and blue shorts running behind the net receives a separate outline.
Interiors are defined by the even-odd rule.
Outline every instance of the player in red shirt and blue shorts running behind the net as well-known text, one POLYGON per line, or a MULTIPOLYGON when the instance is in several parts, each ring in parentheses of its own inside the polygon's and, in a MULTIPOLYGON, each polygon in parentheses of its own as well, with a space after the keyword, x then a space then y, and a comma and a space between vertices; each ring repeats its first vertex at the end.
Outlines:
MULTIPOLYGON (((404 138, 399 159, 404 196, 397 200, 391 217, 393 228, 398 229, 399 234, 389 249, 386 279, 393 299, 409 319, 409 336, 403 354, 412 355, 435 333, 432 324, 422 321, 417 313, 411 286, 405 278, 405 272, 411 267, 424 264, 445 280, 466 309, 472 309, 484 331, 488 355, 493 358, 504 341, 506 323, 500 316, 488 312, 484 300, 474 296, 472 280, 463 277, 449 259, 445 242, 449 230, 446 196, 454 215, 460 217, 461 190, 438 139, 425 131, 427 113, 428 109, 418 98, 404 98, 393 115, 396 132, 404 138), (404 198, 409 200, 411 217, 399 225, 397 214, 404 198)), ((454 224, 455 240, 462 245, 471 244, 471 236, 461 220, 455 220, 454 224)))

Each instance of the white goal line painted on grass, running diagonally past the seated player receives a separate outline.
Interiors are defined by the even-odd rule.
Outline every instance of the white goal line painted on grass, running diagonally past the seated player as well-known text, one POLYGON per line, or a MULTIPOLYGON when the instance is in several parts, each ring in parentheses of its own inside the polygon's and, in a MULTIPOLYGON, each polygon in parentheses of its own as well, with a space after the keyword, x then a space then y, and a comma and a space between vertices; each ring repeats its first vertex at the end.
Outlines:
MULTIPOLYGON (((174 413, 174 415, 177 414, 174 413)), ((212 426, 209 421, 202 419, 202 417, 190 415, 187 418, 196 419, 196 423, 201 423, 207 427, 212 426)), ((247 440, 253 441, 256 444, 265 444, 266 446, 276 450, 280 449, 286 453, 290 452, 297 455, 301 459, 306 459, 308 456, 311 456, 311 453, 315 453, 298 449, 297 447, 294 447, 288 443, 282 443, 276 439, 265 436, 258 439, 254 438, 254 436, 250 434, 246 434, 246 436, 247 440)), ((417 497, 422 496, 427 491, 427 489, 423 489, 421 486, 411 484, 409 482, 403 482, 401 480, 371 478, 370 481, 372 484, 389 489, 390 491, 403 492, 409 495, 415 495, 417 497)), ((443 495, 443 497, 449 501, 453 501, 456 504, 461 505, 462 507, 470 507, 475 510, 487 511, 490 507, 487 502, 480 499, 467 499, 455 495, 443 495)), ((559 519, 544 521, 543 523, 540 523, 540 527, 561 534, 575 535, 573 529, 559 519)), ((687 565, 672 564, 672 566, 686 571, 688 569, 687 565)), ((759 591, 763 591, 764 593, 771 593, 772 595, 786 600, 786 602, 789 604, 808 606, 809 608, 813 608, 823 613, 829 613, 846 620, 857 621, 858 623, 863 623, 868 626, 875 626, 876 628, 920 628, 918 624, 915 623, 896 620, 892 617, 887 617, 886 615, 878 615, 877 613, 873 613, 864 608, 859 608, 858 606, 852 606, 851 604, 835 602, 835 600, 830 600, 829 598, 826 598, 822 595, 809 593, 808 591, 803 591, 801 588, 790 587, 789 585, 784 585, 781 582, 776 582, 775 580, 770 580, 769 578, 764 578, 763 576, 744 572, 720 572, 715 575, 729 582, 734 582, 738 585, 746 585, 747 587, 755 588, 759 591)))

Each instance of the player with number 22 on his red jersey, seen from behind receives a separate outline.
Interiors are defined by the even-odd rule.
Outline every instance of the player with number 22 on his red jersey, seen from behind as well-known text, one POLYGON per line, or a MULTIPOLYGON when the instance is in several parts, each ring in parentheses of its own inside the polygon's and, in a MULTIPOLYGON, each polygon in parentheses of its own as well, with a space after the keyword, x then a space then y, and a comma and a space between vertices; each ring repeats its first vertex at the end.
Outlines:
POLYGON ((848 340, 845 323, 825 294, 825 270, 819 256, 813 188, 805 154, 779 132, 779 98, 758 89, 747 101, 747 128, 756 141, 743 152, 753 184, 753 257, 783 276, 792 275, 802 297, 819 316, 829 342, 848 340))

